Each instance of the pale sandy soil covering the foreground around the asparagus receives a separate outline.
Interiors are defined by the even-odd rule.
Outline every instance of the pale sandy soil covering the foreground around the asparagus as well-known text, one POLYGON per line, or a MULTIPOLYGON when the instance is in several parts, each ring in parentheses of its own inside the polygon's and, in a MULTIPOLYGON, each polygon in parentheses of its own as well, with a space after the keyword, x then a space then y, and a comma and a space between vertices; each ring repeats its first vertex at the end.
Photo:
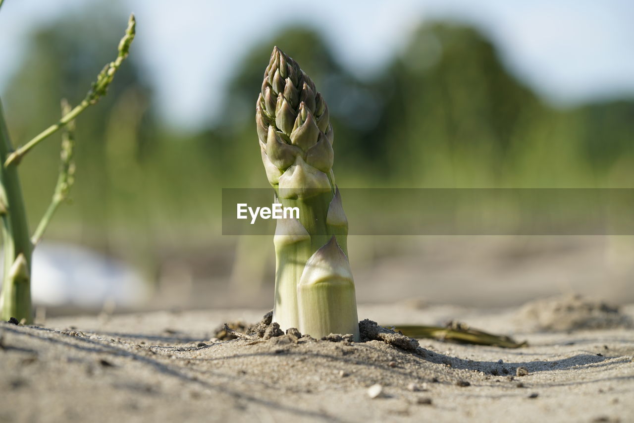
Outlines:
POLYGON ((211 340, 219 323, 257 322, 264 311, 1 323, 0 421, 634 421, 634 306, 359 306, 360 318, 382 325, 459 319, 527 340, 521 349, 211 340))

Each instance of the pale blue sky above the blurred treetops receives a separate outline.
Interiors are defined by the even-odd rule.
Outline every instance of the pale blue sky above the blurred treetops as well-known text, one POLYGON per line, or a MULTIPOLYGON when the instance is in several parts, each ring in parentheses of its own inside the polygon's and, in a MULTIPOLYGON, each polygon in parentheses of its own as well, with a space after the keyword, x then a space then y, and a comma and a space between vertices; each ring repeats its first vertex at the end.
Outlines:
MULTIPOLYGON (((0 12, 0 94, 28 34, 97 0, 5 0, 0 12)), ((560 107, 634 96, 634 2, 629 0, 119 0, 133 11, 132 54, 157 90, 164 119, 182 129, 213 122, 230 72, 250 47, 286 25, 319 30, 335 58, 370 78, 401 54, 425 20, 474 25, 503 62, 560 107)), ((98 18, 98 16, 96 16, 98 18)))

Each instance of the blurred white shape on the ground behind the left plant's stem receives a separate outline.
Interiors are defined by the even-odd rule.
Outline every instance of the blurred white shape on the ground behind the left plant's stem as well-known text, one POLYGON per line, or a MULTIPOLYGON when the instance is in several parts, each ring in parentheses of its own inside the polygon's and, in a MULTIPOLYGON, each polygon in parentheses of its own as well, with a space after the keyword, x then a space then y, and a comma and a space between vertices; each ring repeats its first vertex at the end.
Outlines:
POLYGON ((108 302, 133 306, 149 295, 143 278, 131 266, 74 244, 37 245, 31 275, 33 303, 39 305, 101 308, 108 302))

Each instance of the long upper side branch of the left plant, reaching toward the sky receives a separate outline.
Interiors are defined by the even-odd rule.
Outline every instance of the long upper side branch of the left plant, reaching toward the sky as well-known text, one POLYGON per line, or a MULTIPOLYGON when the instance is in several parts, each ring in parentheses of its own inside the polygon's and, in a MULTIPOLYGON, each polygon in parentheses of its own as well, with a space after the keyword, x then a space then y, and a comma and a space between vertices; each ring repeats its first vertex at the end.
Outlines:
POLYGON ((10 166, 10 164, 18 164, 20 160, 22 160, 22 157, 24 157, 24 155, 28 153, 34 146, 46 140, 46 138, 55 134, 61 128, 67 126, 68 122, 74 120, 77 116, 84 112, 86 108, 93 104, 96 104, 102 96, 105 96, 108 91, 108 86, 110 86, 115 73, 121 66, 121 63, 123 63, 123 61, 129 54, 130 44, 134 39, 135 33, 136 20, 134 19, 134 15, 130 15, 127 23, 126 35, 119 42, 119 54, 117 55, 117 58, 114 62, 110 62, 105 65, 105 67, 103 67, 99 75, 97 75, 97 80, 93 82, 91 89, 86 94, 86 98, 84 98, 84 100, 82 100, 79 105, 70 110, 70 112, 63 115, 59 122, 44 129, 44 131, 37 134, 28 143, 15 150, 15 152, 11 153, 6 160, 3 160, 5 167, 10 166))

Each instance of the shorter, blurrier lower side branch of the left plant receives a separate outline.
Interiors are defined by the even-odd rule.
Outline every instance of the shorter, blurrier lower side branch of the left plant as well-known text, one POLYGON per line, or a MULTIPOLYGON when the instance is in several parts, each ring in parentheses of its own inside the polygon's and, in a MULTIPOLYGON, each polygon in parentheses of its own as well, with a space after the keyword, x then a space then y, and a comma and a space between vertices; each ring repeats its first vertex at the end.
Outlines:
MULTIPOLYGON (((69 110, 70 104, 68 104, 68 101, 62 100, 61 114, 67 115, 69 110)), ((51 223, 51 219, 57 211, 57 208, 60 207, 62 202, 67 200, 68 192, 70 192, 70 188, 73 186, 75 181, 75 163, 73 161, 73 150, 75 146, 74 132, 75 122, 71 120, 61 133, 60 174, 57 177, 57 183, 55 185, 53 198, 51 199, 51 204, 48 205, 48 209, 44 212, 44 216, 42 216, 35 233, 31 237, 31 242, 34 246, 39 244, 42 236, 44 235, 44 231, 46 231, 49 223, 51 223)))

